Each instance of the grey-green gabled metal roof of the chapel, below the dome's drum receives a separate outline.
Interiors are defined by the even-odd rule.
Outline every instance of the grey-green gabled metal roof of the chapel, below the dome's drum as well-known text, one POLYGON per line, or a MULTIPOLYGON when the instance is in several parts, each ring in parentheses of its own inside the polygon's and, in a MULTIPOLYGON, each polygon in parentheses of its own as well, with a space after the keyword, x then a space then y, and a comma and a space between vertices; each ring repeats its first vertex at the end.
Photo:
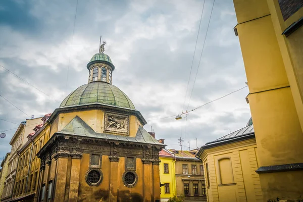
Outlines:
POLYGON ((160 143, 141 126, 139 126, 135 137, 97 133, 78 116, 76 116, 69 124, 67 124, 67 126, 62 131, 59 131, 57 133, 165 146, 165 144, 160 143))

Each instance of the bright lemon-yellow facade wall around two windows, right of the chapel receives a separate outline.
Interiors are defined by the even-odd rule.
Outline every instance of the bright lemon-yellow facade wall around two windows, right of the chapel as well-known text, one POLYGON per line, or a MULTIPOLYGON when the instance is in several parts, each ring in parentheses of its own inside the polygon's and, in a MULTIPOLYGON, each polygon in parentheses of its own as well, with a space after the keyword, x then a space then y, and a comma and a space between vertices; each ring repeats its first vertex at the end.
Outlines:
MULTIPOLYGON (((169 183, 170 193, 165 193, 165 187, 161 187, 161 200, 168 199, 176 195, 176 173, 175 160, 173 158, 160 157, 160 182, 161 184, 169 183), (169 173, 164 173, 164 164, 168 164, 169 173)), ((165 201, 165 200, 163 200, 165 201)))

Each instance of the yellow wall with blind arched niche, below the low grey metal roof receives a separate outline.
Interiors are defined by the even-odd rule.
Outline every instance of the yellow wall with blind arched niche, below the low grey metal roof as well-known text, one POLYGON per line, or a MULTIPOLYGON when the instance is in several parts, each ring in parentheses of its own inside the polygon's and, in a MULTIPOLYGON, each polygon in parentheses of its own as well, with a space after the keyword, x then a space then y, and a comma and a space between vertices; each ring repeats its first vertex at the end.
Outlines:
MULTIPOLYGON (((208 201, 263 201, 260 178, 256 173, 259 167, 256 151, 256 140, 249 139, 209 148, 203 152, 201 158, 205 176, 206 164, 209 169, 208 201)), ((207 181, 207 177, 205 179, 207 181)))

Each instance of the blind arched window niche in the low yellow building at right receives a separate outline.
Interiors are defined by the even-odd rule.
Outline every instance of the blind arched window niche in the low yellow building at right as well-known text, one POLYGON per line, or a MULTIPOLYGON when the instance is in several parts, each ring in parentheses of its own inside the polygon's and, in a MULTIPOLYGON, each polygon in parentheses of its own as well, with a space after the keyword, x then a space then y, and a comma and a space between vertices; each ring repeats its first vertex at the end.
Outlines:
POLYGON ((231 167, 230 158, 220 159, 219 163, 219 173, 221 178, 221 184, 233 183, 233 172, 231 167))

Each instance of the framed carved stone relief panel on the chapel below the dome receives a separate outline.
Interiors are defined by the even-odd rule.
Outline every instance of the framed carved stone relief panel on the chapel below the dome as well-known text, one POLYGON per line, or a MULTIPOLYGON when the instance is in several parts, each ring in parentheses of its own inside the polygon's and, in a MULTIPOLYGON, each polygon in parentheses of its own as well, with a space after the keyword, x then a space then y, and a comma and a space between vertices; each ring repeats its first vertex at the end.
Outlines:
POLYGON ((129 116, 106 112, 104 131, 129 135, 129 116))

